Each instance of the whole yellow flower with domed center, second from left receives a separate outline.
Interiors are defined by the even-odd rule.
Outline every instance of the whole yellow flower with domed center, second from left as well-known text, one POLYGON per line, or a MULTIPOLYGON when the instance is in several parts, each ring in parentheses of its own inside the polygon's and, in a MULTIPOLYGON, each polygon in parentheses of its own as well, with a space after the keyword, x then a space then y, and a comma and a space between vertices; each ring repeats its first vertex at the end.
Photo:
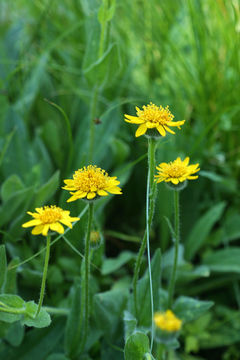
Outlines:
POLYGON ((65 190, 69 190, 72 195, 67 202, 78 199, 92 200, 99 196, 110 194, 122 194, 121 189, 117 186, 120 181, 117 177, 110 177, 105 170, 97 166, 89 165, 75 171, 73 179, 64 180, 65 190))

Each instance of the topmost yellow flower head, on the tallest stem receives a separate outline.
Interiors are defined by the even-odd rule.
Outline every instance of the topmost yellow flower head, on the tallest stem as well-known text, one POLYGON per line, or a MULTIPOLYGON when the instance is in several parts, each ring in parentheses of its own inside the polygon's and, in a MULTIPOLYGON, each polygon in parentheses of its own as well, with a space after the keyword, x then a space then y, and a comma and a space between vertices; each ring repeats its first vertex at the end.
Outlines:
POLYGON ((146 133, 149 136, 165 136, 166 132, 175 134, 170 127, 180 126, 185 123, 182 121, 173 121, 174 115, 170 112, 168 106, 163 108, 162 106, 156 106, 152 103, 147 106, 143 106, 143 110, 136 107, 137 116, 124 115, 125 121, 131 124, 139 125, 135 136, 141 136, 146 133))

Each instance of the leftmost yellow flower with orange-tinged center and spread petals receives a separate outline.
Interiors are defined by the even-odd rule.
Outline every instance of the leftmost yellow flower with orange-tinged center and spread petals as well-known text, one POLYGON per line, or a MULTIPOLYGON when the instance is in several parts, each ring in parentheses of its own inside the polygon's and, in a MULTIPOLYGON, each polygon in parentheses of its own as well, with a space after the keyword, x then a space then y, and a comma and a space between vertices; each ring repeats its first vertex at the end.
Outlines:
POLYGON ((72 228, 72 222, 79 220, 78 217, 69 216, 70 211, 63 210, 55 205, 44 206, 36 208, 35 210, 35 213, 30 211, 27 212, 27 214, 31 215, 34 220, 30 220, 22 225, 24 228, 34 226, 32 229, 33 235, 42 234, 43 236, 47 236, 48 230, 63 234, 64 227, 62 224, 72 228))

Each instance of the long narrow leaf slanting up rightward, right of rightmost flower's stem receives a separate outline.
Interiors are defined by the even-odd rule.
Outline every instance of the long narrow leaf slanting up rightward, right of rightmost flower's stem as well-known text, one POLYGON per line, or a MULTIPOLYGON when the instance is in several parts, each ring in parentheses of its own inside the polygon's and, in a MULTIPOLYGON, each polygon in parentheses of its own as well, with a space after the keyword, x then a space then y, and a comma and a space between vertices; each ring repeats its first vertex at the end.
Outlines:
POLYGON ((195 224, 185 243, 185 257, 190 260, 202 247, 214 224, 220 219, 226 203, 220 202, 208 210, 195 224))

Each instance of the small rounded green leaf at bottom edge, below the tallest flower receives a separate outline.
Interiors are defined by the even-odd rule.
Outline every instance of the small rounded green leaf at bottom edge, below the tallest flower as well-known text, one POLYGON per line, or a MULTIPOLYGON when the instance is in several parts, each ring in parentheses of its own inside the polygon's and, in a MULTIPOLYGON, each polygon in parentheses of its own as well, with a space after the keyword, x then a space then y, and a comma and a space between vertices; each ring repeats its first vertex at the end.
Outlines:
POLYGON ((149 339, 146 334, 138 331, 128 337, 124 348, 125 360, 143 360, 149 352, 149 339))

